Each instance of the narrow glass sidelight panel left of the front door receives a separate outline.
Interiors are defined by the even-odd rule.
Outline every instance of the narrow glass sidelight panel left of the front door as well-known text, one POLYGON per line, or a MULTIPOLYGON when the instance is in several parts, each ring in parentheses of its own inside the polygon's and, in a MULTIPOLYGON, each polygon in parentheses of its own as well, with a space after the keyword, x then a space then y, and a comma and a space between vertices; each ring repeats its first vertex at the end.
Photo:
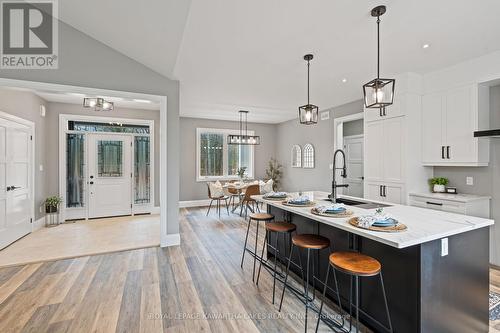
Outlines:
POLYGON ((66 207, 84 207, 85 137, 66 135, 66 207))

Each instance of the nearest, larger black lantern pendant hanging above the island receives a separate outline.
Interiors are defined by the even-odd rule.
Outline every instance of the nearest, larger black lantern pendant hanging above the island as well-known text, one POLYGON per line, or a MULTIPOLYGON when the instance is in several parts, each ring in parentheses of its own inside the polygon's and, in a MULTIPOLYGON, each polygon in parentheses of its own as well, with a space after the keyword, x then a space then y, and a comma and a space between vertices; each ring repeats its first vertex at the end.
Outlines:
POLYGON ((380 109, 389 106, 394 101, 394 86, 396 80, 380 78, 380 16, 386 12, 385 6, 372 9, 372 16, 377 18, 377 78, 363 86, 365 106, 380 109))

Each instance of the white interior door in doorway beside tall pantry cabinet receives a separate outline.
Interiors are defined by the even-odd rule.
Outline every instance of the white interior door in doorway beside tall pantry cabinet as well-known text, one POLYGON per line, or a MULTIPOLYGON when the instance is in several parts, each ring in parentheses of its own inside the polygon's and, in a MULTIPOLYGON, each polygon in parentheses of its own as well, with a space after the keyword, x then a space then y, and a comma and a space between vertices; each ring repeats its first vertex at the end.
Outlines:
POLYGON ((363 197, 363 136, 344 137, 344 152, 346 155, 347 178, 345 184, 349 187, 344 189, 344 193, 354 197, 363 197))

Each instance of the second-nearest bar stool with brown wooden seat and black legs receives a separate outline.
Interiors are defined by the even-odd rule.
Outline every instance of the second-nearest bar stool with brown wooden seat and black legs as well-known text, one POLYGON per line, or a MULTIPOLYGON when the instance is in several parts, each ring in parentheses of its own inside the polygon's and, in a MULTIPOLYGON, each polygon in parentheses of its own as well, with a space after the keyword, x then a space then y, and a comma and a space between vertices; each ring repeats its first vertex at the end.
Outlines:
MULTIPOLYGON (((283 298, 285 296, 285 289, 287 287, 287 280, 288 280, 288 274, 290 272, 290 263, 292 261, 292 254, 293 254, 293 249, 295 247, 298 247, 299 249, 306 249, 307 250, 307 266, 306 266, 306 281, 304 284, 304 304, 306 306, 306 315, 305 315, 305 326, 304 330, 307 332, 307 310, 311 305, 311 303, 314 300, 314 295, 315 295, 315 280, 316 277, 314 275, 314 263, 313 263, 313 300, 309 299, 309 262, 310 262, 310 257, 311 257, 311 250, 323 250, 328 248, 329 251, 331 252, 331 247, 330 247, 330 240, 326 237, 320 236, 320 235, 313 235, 313 234, 298 234, 294 235, 292 237, 292 248, 290 249, 290 256, 288 258, 288 264, 287 264, 287 269, 286 269, 286 275, 285 275, 285 281, 283 283, 283 291, 281 293, 281 301, 280 301, 280 307, 279 311, 281 311, 281 306, 283 305, 283 298)), ((303 267, 302 267, 302 260, 300 259, 300 252, 299 252, 299 262, 300 262, 300 268, 303 273, 303 267)), ((302 282, 304 282, 304 275, 302 274, 302 282)))

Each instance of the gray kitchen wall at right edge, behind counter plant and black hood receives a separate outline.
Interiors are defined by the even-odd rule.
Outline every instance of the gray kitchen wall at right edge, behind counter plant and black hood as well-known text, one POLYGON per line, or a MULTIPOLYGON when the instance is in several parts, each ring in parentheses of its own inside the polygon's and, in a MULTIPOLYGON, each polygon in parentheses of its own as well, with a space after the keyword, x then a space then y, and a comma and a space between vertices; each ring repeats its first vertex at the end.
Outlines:
MULTIPOLYGON (((500 86, 490 89, 490 123, 491 128, 500 128, 500 86)), ((434 167, 434 176, 448 178, 450 186, 456 186, 459 192, 490 195, 491 217, 498 222, 500 221, 500 139, 489 140, 491 149, 489 166, 434 167), (465 178, 468 176, 474 177, 474 185, 466 185, 465 178)), ((490 239, 492 243, 500 239, 498 224, 492 227, 490 239)), ((500 253, 493 252, 490 261, 500 265, 500 253)))

